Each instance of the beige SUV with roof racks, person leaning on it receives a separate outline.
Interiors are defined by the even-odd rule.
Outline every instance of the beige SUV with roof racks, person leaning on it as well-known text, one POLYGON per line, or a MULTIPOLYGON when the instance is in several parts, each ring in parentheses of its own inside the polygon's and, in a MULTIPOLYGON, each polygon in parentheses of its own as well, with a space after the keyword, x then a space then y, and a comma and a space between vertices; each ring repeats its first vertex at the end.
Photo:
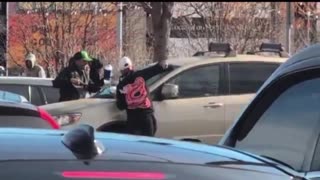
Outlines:
MULTIPOLYGON (((146 82, 158 120, 156 136, 199 138, 217 143, 258 88, 286 59, 254 54, 168 60, 174 70, 146 82)), ((86 123, 99 131, 125 130, 126 113, 118 110, 112 98, 81 99, 42 107, 64 128, 86 123)))

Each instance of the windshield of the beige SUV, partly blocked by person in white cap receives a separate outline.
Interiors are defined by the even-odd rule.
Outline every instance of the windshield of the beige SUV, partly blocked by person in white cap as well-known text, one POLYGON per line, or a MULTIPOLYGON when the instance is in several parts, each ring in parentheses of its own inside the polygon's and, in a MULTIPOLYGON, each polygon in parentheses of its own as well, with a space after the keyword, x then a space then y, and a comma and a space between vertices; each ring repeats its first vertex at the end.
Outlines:
MULTIPOLYGON (((147 66, 149 67, 149 66, 147 66)), ((177 68, 177 66, 173 66, 174 69, 177 68)), ((172 71, 172 70, 171 70, 172 71)), ((153 76, 152 78, 148 79, 146 81, 146 84, 148 87, 150 87, 152 84, 154 84, 155 82, 157 82, 158 80, 160 80, 163 76, 167 75, 168 73, 170 73, 171 71, 165 71, 163 73, 157 74, 155 76, 153 76)), ((106 86, 103 89, 101 89, 97 94, 95 94, 94 96, 92 96, 92 98, 114 98, 114 93, 115 93, 115 88, 116 86, 106 86)))

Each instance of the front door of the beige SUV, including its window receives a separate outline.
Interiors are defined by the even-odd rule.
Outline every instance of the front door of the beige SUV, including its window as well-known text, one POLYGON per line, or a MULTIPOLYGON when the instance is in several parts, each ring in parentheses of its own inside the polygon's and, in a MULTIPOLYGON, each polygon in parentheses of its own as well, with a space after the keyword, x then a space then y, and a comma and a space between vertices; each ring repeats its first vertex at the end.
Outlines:
POLYGON ((185 70, 169 79, 166 83, 179 86, 179 97, 154 101, 156 135, 218 142, 224 133, 221 74, 220 64, 210 64, 185 70))

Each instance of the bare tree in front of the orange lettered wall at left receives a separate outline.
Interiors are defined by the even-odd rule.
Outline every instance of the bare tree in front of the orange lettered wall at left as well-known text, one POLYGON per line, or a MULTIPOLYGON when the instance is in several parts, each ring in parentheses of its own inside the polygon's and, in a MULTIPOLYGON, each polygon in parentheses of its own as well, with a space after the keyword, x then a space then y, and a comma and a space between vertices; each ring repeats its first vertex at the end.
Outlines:
POLYGON ((14 21, 19 22, 11 23, 10 35, 25 52, 36 54, 50 76, 65 67, 76 51, 104 56, 116 48, 112 3, 36 2, 36 6, 33 12, 16 16, 14 21))

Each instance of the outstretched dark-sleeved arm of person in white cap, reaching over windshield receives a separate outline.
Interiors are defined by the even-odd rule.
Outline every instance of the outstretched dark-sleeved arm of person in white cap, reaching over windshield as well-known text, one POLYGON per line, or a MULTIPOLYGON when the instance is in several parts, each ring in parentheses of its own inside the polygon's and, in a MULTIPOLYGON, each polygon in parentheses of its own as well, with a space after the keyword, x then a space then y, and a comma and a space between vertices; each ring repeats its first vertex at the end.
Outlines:
POLYGON ((155 64, 154 66, 139 70, 136 73, 138 74, 138 76, 143 77, 143 79, 146 81, 157 74, 165 72, 168 69, 168 67, 168 63, 166 61, 162 61, 155 64))

